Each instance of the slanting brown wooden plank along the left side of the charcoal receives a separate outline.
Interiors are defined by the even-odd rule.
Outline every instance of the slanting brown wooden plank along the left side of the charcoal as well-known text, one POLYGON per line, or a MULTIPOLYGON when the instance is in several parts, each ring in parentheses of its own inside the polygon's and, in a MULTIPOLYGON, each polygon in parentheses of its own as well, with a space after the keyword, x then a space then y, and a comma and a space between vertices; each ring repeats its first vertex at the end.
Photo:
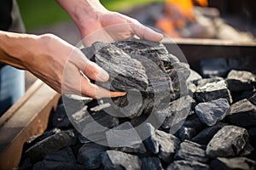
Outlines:
POLYGON ((11 111, 15 113, 0 128, 1 170, 18 166, 23 144, 33 135, 44 132, 49 113, 60 99, 60 94, 56 94, 44 82, 35 83, 36 90, 24 99, 26 101, 14 105, 15 109, 11 111))

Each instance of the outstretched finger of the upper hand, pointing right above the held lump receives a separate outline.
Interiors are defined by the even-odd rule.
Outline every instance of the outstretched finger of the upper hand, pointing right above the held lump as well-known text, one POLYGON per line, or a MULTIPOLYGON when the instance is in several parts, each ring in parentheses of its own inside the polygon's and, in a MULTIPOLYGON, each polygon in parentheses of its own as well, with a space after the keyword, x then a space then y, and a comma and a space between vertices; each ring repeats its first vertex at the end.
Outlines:
POLYGON ((163 39, 163 35, 153 31, 147 26, 143 26, 140 23, 131 25, 132 31, 141 38, 144 38, 148 41, 160 42, 163 39))

